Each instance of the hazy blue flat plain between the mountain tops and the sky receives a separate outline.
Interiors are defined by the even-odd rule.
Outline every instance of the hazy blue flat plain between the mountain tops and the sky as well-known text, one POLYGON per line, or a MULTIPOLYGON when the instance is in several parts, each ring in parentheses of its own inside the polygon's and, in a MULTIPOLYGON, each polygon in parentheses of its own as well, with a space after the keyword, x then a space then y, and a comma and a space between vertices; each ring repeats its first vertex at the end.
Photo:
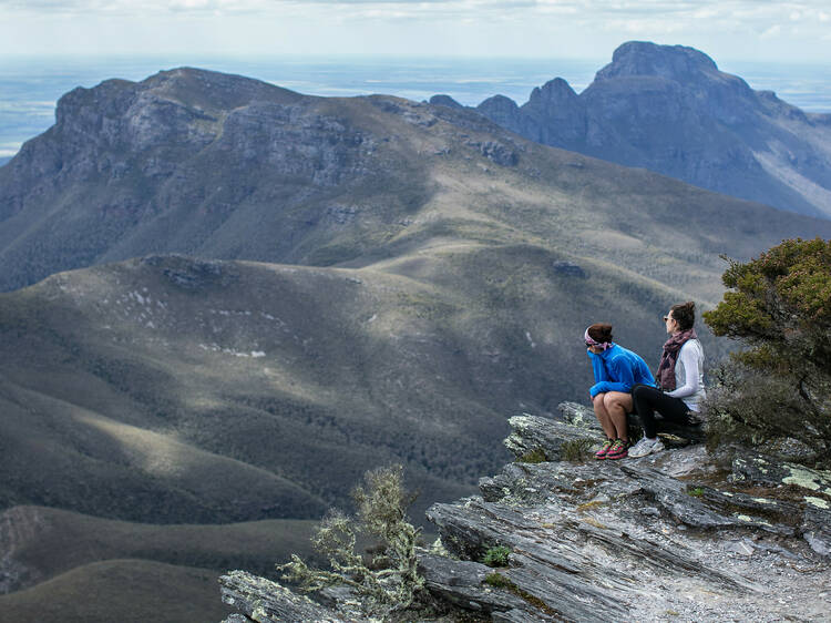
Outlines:
MULTIPOLYGON (((701 50, 707 53, 707 50, 701 50)), ((6 59, 0 68, 0 159, 54 122, 57 100, 75 86, 91 88, 111 78, 143 80, 175 67, 201 67, 240 73, 311 95, 352 96, 384 93, 424 100, 449 94, 476 105, 502 94, 517 104, 535 86, 565 79, 581 92, 607 59, 517 59, 452 57, 380 57, 372 54, 29 54, 6 59)), ((765 63, 714 58, 719 69, 745 79, 757 90, 772 90, 808 112, 831 112, 831 63, 765 63)))

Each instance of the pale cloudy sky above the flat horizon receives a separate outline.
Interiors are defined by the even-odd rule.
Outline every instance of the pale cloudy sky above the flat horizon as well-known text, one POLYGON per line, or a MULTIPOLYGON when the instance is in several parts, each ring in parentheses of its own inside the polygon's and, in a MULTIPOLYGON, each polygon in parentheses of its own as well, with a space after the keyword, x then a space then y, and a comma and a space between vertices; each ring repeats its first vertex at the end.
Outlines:
MULTIPOLYGON (((829 0, 0 0, 7 54, 609 59, 629 40, 827 63, 829 0)), ((0 60, 0 62, 2 62, 0 60)))

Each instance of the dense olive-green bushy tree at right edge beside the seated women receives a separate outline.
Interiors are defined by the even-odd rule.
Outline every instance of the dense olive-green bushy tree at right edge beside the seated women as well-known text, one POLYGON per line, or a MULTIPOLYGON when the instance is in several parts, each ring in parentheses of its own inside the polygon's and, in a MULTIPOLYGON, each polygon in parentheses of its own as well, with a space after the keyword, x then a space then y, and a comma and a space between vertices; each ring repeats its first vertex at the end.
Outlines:
POLYGON ((721 370, 712 427, 751 442, 798 439, 822 456, 831 449, 831 241, 783 241, 728 262, 731 289, 704 317, 749 348, 721 370))

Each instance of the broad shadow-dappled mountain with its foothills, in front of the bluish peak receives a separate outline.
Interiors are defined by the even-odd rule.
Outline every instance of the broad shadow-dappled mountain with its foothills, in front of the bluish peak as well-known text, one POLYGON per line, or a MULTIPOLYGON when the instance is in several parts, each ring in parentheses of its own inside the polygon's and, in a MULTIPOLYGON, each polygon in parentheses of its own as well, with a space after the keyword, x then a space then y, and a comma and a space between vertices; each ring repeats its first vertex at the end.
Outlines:
POLYGON ((475 111, 188 68, 62 98, 0 219, 0 613, 115 570, 121 621, 177 581, 214 616, 199 569, 300 549, 366 469, 403 463, 416 515, 471 491, 507 416, 585 399, 587 324, 657 364, 720 254, 831 236, 475 111), (32 554, 48 529, 94 554, 32 554))

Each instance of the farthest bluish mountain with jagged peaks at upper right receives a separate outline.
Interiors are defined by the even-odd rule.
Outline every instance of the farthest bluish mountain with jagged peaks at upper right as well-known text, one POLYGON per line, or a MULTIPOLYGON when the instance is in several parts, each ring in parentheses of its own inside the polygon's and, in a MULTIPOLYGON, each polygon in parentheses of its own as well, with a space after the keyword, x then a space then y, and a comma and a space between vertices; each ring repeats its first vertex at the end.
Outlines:
POLYGON ((632 41, 579 94, 557 78, 521 106, 495 95, 475 110, 545 145, 831 218, 831 114, 753 91, 693 48, 632 41))

